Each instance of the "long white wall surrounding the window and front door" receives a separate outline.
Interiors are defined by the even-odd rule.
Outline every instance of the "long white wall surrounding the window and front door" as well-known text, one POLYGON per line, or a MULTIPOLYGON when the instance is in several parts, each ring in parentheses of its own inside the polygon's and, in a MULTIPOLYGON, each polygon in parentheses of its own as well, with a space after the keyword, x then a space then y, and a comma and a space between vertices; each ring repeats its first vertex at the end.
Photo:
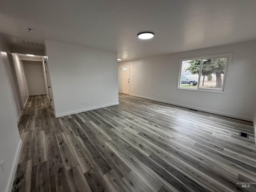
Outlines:
MULTIPOLYGON (((119 62, 118 82, 120 82, 120 65, 130 64, 131 95, 252 121, 256 109, 255 47, 254 40, 119 62), (228 65, 225 94, 177 89, 180 58, 227 52, 234 52, 234 55, 228 65), (235 111, 240 111, 239 116, 235 115, 235 111)), ((121 92, 120 83, 119 92, 121 92)))

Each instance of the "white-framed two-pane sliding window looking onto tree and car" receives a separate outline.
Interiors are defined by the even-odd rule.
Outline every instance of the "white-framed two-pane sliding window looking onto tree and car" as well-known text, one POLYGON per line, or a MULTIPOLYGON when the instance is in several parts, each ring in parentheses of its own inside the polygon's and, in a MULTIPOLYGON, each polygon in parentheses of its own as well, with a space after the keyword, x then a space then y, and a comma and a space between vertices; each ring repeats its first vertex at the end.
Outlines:
POLYGON ((232 53, 182 59, 178 89, 223 92, 232 53))

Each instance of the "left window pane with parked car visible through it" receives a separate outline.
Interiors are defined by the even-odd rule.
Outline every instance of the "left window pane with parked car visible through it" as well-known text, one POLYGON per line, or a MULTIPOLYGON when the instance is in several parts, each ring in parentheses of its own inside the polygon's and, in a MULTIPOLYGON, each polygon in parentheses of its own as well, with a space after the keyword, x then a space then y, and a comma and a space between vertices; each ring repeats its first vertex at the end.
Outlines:
POLYGON ((182 61, 180 88, 197 89, 200 59, 182 61))

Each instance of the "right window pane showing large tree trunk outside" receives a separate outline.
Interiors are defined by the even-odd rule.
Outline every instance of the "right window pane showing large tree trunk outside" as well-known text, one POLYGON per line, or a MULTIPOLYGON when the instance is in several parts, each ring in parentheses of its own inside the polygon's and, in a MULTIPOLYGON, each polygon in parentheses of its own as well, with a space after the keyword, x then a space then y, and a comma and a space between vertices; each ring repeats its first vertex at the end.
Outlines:
POLYGON ((199 88, 222 89, 227 58, 203 59, 199 88))

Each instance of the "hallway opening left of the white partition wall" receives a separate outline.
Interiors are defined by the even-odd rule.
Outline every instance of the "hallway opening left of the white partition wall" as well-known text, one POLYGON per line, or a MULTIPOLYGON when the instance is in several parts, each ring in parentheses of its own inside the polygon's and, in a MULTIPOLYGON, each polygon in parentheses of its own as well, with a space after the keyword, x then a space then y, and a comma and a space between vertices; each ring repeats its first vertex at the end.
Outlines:
MULTIPOLYGON (((18 98, 20 98, 21 110, 24 110, 30 96, 46 94, 48 97, 50 96, 50 80, 48 79, 48 70, 46 70, 46 56, 28 56, 26 54, 12 53, 12 60, 14 79, 17 82, 16 92, 18 98)), ((49 99, 52 101, 50 97, 49 99)), ((17 101, 14 100, 13 102, 16 105, 17 101)), ((21 116, 21 113, 22 111, 19 112, 19 116, 21 116)))

